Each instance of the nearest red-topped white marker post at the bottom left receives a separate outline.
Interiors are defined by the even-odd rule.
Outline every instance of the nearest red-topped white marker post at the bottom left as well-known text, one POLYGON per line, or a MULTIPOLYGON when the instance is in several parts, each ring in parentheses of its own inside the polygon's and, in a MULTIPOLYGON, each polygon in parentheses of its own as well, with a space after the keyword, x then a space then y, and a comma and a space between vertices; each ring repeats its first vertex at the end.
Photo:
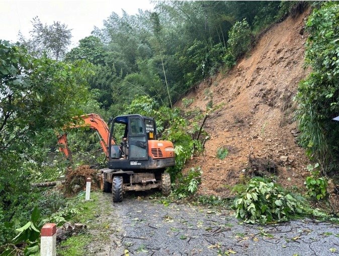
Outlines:
POLYGON ((41 229, 41 256, 56 255, 56 224, 47 223, 41 229))

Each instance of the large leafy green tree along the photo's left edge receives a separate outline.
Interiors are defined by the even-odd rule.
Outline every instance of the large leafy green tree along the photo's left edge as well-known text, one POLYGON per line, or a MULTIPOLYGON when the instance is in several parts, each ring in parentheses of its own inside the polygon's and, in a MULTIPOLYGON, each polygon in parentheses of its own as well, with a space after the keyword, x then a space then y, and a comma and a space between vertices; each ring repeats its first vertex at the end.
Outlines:
MULTIPOLYGON (((41 141, 82 114, 91 69, 82 62, 37 59, 19 44, 1 40, 0 63, 0 223, 5 223, 34 208, 27 165, 41 166, 46 160, 41 141)), ((3 234, 0 230, 0 242, 3 234)))

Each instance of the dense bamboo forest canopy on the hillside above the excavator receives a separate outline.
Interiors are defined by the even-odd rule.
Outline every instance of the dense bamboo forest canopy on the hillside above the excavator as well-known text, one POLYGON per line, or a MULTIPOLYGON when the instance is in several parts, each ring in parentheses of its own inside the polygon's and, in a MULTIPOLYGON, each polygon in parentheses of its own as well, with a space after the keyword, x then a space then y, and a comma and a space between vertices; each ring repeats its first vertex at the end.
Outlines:
POLYGON ((254 35, 248 29, 243 49, 227 55, 229 45, 238 47, 228 42, 236 22, 261 31, 282 19, 290 6, 266 1, 158 2, 153 12, 122 17, 112 13, 103 28, 81 39, 64 60, 85 59, 95 65, 90 86, 113 114, 121 113, 122 105, 136 95, 170 106, 193 84, 213 75, 225 59, 233 63, 249 48, 254 35))

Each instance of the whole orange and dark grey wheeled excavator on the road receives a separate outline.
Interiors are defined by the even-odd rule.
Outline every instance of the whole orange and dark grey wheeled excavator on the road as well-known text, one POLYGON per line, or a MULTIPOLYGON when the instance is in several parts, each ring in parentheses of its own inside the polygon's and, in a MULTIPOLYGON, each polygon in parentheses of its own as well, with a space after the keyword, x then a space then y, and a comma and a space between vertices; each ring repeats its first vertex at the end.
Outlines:
MULTIPOLYGON (((171 193, 171 177, 165 168, 175 165, 171 141, 157 140, 153 118, 124 115, 111 118, 111 128, 98 114, 73 117, 82 120, 64 128, 89 127, 100 137, 100 144, 108 159, 108 168, 100 170, 100 188, 112 192, 113 202, 121 202, 127 191, 160 189, 164 196, 171 193), (118 144, 113 134, 121 135, 118 144)), ((71 159, 67 133, 58 136, 59 150, 71 159)))

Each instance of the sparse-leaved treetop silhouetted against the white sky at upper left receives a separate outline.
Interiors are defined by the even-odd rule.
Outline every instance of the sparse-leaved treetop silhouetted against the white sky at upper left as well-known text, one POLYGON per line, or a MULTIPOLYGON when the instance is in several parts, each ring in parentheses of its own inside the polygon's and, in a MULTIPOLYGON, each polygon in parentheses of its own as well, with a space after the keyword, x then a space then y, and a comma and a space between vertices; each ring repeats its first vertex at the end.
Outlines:
POLYGON ((41 57, 45 52, 56 61, 62 59, 71 43, 71 29, 59 21, 54 21, 52 25, 42 24, 38 16, 33 18, 32 25, 30 38, 25 39, 19 32, 19 41, 36 57, 41 57))

